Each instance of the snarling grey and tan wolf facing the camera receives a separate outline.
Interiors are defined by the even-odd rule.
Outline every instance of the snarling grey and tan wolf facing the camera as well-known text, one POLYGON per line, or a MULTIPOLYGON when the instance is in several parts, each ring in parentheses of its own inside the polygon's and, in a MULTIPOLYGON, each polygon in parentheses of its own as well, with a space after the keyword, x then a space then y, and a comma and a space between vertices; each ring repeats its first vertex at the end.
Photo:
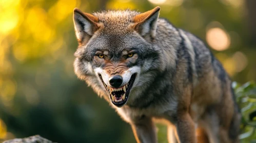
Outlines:
POLYGON ((231 80, 202 40, 144 13, 75 8, 74 72, 132 127, 137 142, 239 142, 241 113, 231 80))

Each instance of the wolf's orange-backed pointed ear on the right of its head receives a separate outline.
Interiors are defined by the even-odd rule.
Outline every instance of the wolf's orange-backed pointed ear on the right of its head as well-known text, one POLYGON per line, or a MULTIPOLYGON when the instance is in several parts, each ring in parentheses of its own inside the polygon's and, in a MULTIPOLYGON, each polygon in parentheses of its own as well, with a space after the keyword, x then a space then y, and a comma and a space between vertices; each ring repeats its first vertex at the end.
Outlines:
POLYGON ((134 29, 142 36, 150 34, 150 36, 154 37, 159 11, 160 7, 155 7, 150 11, 134 16, 134 29))

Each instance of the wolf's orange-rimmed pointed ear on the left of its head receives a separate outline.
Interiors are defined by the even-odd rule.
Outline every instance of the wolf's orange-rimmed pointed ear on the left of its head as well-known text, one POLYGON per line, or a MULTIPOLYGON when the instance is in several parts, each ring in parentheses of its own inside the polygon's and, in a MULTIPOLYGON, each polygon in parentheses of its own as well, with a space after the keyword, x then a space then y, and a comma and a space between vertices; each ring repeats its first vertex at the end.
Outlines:
POLYGON ((99 19, 96 16, 84 13, 77 8, 74 9, 73 20, 78 42, 82 42, 84 38, 92 36, 100 28, 97 23, 99 19))

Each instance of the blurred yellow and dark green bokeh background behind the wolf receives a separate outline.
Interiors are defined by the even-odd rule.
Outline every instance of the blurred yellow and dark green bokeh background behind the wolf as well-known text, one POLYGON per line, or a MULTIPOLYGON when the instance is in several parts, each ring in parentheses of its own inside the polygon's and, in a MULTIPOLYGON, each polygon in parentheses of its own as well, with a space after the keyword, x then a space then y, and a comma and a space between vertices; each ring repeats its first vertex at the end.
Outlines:
MULTIPOLYGON (((0 142, 135 142, 130 126, 78 80, 72 12, 161 7, 205 41, 234 81, 256 80, 255 0, 0 0, 0 142)), ((167 142, 159 126, 160 142, 167 142)))

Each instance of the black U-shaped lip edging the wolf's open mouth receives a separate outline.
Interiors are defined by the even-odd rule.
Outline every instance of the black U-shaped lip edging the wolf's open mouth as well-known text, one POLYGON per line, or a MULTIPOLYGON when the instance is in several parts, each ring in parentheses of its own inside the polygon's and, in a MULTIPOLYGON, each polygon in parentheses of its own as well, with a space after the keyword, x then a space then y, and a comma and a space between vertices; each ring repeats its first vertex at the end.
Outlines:
POLYGON ((133 83, 134 83, 134 81, 135 81, 136 73, 131 76, 130 81, 128 82, 129 85, 128 85, 127 89, 126 89, 125 100, 124 100, 123 102, 120 102, 120 103, 115 103, 115 102, 112 101, 112 99, 111 99, 111 94, 109 93, 109 90, 108 90, 107 85, 104 83, 104 81, 103 81, 103 79, 102 79, 102 76, 101 76, 100 74, 99 74, 99 77, 100 77, 100 79, 102 80, 103 85, 105 86, 105 88, 106 88, 106 90, 107 90, 107 92, 108 92, 109 99, 110 99, 111 103, 114 104, 114 105, 117 106, 117 107, 122 107, 123 105, 125 105, 125 103, 128 101, 129 94, 130 94, 130 90, 131 90, 132 85, 133 85, 133 83))

